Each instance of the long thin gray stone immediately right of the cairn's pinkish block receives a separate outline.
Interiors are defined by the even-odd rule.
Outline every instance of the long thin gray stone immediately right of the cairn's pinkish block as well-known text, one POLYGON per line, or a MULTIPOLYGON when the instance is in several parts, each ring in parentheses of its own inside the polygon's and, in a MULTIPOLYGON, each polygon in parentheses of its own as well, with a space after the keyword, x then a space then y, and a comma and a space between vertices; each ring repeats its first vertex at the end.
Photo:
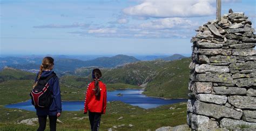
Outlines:
POLYGON ((215 94, 230 94, 230 95, 246 94, 246 88, 239 88, 239 87, 214 86, 213 91, 215 92, 215 94))

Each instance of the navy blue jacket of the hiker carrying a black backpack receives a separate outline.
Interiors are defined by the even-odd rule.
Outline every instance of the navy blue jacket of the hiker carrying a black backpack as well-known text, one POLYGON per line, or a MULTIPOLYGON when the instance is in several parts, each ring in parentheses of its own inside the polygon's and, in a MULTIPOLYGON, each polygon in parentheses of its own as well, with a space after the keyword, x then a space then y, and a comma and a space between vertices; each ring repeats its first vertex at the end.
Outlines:
MULTIPOLYGON (((41 77, 48 77, 53 71, 43 71, 41 77)), ((38 76, 38 73, 37 73, 38 76)), ((37 77, 35 82, 37 81, 37 77)), ((57 115, 62 112, 62 100, 60 98, 60 87, 58 77, 51 78, 48 83, 50 84, 50 91, 52 93, 52 104, 50 108, 36 108, 37 115, 57 115)))

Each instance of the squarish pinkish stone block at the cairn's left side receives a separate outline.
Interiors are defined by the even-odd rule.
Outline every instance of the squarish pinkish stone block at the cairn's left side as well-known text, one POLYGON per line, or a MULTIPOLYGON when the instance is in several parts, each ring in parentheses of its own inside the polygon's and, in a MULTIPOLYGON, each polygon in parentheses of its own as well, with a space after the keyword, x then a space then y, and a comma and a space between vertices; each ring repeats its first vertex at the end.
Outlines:
POLYGON ((195 82, 194 85, 196 93, 212 92, 212 82, 195 82))

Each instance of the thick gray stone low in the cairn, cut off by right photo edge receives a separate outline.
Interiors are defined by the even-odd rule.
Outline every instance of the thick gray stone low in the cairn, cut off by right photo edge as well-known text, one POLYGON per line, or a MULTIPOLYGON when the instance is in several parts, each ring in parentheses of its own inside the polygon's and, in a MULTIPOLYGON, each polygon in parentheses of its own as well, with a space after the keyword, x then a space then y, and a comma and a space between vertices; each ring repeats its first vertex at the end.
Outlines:
POLYGON ((228 101, 231 105, 240 109, 256 109, 256 98, 252 96, 231 95, 228 101))

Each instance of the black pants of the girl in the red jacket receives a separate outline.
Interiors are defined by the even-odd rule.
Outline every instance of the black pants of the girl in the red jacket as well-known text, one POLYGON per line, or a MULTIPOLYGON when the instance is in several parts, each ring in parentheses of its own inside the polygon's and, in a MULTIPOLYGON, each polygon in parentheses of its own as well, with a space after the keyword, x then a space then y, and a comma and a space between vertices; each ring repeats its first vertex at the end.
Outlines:
POLYGON ((100 118, 101 117, 102 117, 101 113, 90 112, 89 111, 89 120, 90 120, 92 131, 98 131, 99 130, 99 123, 100 123, 100 118))

